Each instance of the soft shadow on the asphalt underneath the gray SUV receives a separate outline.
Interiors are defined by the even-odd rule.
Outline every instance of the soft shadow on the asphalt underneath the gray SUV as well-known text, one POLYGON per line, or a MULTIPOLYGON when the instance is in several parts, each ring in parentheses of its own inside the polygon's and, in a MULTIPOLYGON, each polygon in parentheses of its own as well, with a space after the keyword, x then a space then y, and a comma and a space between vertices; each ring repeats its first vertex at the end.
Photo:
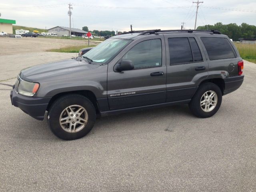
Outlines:
MULTIPOLYGON (((22 113, 22 112, 20 112, 22 113)), ((40 139, 40 140, 52 140, 60 141, 51 132, 47 124, 47 113, 45 114, 43 121, 35 120, 27 114, 20 115, 19 127, 26 127, 26 134, 22 130, 18 129, 16 137, 26 139, 40 139), (23 119, 23 120, 21 120, 23 119)), ((142 110, 138 112, 128 112, 112 116, 104 116, 97 118, 94 127, 91 132, 84 138, 90 137, 102 137, 106 135, 120 136, 123 132, 143 132, 152 129, 164 128, 163 124, 170 124, 172 121, 179 118, 194 118, 190 113, 188 105, 176 105, 164 108, 154 108, 150 110, 142 110)))

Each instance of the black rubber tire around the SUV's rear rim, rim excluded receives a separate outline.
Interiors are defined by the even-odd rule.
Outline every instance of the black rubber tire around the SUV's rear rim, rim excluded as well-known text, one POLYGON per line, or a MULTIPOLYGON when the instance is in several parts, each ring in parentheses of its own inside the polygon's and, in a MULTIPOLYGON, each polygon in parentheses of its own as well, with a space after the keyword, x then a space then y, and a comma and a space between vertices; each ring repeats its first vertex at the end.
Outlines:
POLYGON ((216 114, 216 112, 220 108, 221 102, 222 102, 222 92, 221 92, 219 86, 217 86, 214 83, 208 82, 208 83, 204 83, 199 86, 198 90, 194 94, 194 96, 193 96, 192 100, 190 101, 190 103, 188 104, 188 106, 194 116, 197 116, 200 118, 208 118, 208 117, 211 117, 214 114, 216 114), (216 95, 218 97, 218 102, 212 111, 205 112, 201 108, 201 98, 205 92, 210 91, 210 90, 216 92, 216 95))

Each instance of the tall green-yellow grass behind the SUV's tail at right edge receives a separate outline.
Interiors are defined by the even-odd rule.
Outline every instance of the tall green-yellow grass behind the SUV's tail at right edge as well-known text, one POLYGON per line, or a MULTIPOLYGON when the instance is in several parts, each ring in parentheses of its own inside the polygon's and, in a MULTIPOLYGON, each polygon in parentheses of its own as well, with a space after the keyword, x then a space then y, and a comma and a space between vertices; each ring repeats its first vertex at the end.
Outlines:
POLYGON ((256 44, 234 44, 243 59, 256 63, 256 44))

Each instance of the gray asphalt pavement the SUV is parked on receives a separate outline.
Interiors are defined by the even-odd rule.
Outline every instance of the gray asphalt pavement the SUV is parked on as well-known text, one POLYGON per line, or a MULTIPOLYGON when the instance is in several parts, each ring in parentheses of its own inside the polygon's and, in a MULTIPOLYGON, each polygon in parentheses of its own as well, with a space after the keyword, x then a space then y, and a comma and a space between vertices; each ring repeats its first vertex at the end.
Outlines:
MULTIPOLYGON (((1 77, 15 77, 18 67, 1 77)), ((2 81, 0 191, 254 192, 256 64, 245 61, 244 74, 211 118, 186 105, 107 116, 73 141, 12 106, 2 84, 15 79, 2 81)))

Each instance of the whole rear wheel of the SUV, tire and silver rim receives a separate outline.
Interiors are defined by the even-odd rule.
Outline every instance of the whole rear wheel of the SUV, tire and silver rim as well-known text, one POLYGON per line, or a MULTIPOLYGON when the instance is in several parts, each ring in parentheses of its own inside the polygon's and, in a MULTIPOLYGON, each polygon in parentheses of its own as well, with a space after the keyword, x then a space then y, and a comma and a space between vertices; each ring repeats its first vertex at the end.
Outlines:
POLYGON ((222 92, 214 83, 202 84, 189 103, 189 108, 197 117, 207 118, 213 116, 220 108, 222 92))

